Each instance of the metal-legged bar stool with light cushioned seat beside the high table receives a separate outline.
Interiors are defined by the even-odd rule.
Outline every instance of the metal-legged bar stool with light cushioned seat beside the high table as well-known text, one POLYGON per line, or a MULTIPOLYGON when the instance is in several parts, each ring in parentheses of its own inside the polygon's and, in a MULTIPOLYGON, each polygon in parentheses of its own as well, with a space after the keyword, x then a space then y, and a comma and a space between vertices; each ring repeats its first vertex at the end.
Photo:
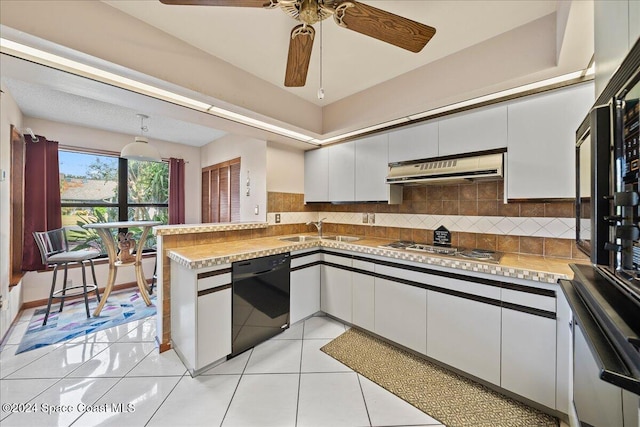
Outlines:
POLYGON ((100 253, 87 250, 70 250, 64 227, 50 231, 34 231, 33 237, 38 244, 38 249, 40 249, 42 263, 46 266, 53 265, 53 280, 51 281, 49 302, 47 303, 47 311, 44 315, 42 326, 47 324, 49 312, 51 311, 51 303, 54 298, 60 300, 59 311, 61 312, 65 298, 84 295, 87 318, 90 318, 88 294, 95 291, 97 302, 100 302, 100 292, 98 291, 98 281, 96 280, 96 271, 93 263, 93 259, 100 256, 100 253), (91 265, 91 275, 93 276, 93 284, 89 285, 87 285, 87 275, 85 272, 85 262, 87 261, 91 265), (71 263, 78 263, 82 266, 82 285, 67 287, 67 269, 71 263), (64 280, 62 289, 56 291, 56 277, 58 275, 58 267, 61 265, 64 267, 64 280))

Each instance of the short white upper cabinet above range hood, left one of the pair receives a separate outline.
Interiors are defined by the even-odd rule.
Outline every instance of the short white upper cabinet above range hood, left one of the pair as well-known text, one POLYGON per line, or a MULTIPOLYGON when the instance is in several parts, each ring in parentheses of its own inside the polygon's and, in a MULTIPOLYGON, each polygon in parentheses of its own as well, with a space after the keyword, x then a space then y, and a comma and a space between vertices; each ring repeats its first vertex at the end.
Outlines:
POLYGON ((389 132, 389 163, 438 157, 438 122, 389 132))

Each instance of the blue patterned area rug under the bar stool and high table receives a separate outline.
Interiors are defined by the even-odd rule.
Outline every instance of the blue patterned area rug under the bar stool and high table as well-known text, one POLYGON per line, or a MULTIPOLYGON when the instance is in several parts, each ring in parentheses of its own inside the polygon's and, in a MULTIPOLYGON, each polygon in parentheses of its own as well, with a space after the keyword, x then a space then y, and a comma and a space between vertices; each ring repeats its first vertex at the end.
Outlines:
POLYGON ((46 307, 39 308, 33 314, 16 354, 153 316, 156 314, 155 295, 151 297, 151 302, 152 305, 147 307, 137 290, 112 293, 100 316, 94 317, 93 311, 98 305, 94 297, 93 302, 89 300, 89 312, 92 315, 89 319, 84 299, 65 302, 62 312, 58 312, 58 304, 53 304, 45 326, 42 326, 42 322, 46 307))

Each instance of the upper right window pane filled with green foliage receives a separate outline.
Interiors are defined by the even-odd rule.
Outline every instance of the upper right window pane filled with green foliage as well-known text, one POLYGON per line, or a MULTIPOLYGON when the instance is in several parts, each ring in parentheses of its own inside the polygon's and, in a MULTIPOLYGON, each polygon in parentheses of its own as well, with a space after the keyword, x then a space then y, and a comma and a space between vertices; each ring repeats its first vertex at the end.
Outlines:
MULTIPOLYGON (((169 164, 129 160, 129 203, 168 203, 169 164)), ((129 216, 131 217, 131 215, 129 216)))

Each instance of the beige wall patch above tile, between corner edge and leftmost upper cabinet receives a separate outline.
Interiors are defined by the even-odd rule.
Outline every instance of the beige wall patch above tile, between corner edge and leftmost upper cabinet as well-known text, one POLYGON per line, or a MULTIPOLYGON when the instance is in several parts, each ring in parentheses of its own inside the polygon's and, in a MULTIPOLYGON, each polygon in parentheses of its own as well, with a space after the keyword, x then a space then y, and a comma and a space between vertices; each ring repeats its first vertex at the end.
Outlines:
POLYGON ((267 144, 267 191, 304 193, 304 151, 267 144))

